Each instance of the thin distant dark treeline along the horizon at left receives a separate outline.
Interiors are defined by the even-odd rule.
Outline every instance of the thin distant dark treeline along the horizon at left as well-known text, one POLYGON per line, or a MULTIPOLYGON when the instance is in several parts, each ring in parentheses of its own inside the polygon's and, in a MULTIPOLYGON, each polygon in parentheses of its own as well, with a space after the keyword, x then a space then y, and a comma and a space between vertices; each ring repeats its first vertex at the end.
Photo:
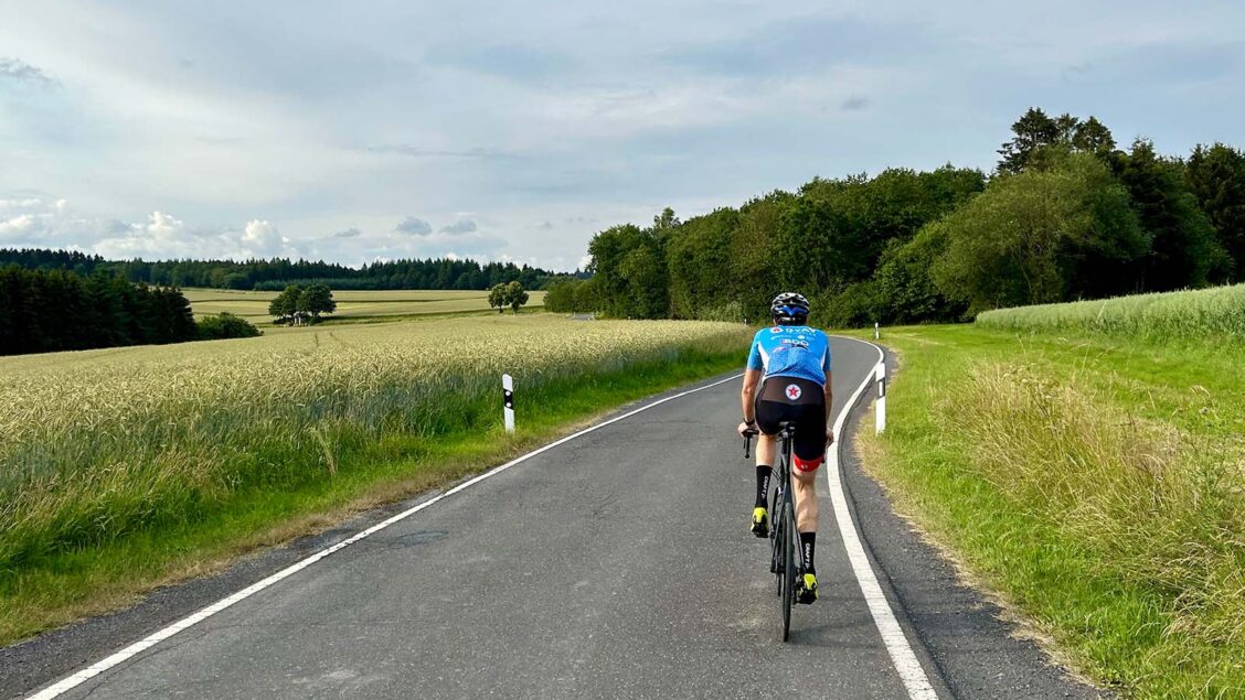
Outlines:
MULTIPOLYGON (((334 290, 487 290, 518 281, 543 288, 558 275, 513 262, 474 260, 395 260, 350 267, 308 260, 143 260, 113 261, 68 250, 0 249, 0 266, 26 270, 67 270, 78 275, 106 272, 131 282, 173 287, 281 291, 300 285, 327 285, 334 290)), ((561 276, 566 277, 566 276, 561 276)))

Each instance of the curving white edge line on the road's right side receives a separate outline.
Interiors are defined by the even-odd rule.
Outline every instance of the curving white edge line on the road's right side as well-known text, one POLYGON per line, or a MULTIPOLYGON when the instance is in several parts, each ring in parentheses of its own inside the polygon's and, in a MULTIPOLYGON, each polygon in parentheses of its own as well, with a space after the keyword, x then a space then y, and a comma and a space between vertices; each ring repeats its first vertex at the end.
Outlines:
MULTIPOLYGON (((842 336, 838 336, 842 337, 842 336)), ((872 346, 878 351, 878 362, 885 362, 886 356, 881 352, 881 348, 870 343, 868 341, 860 341, 858 338, 845 338, 849 341, 857 341, 872 346)), ((876 369, 876 364, 874 364, 876 369)), ((848 403, 843 405, 839 412, 838 418, 834 419, 834 449, 830 450, 829 463, 825 469, 825 477, 830 482, 830 501, 834 504, 834 518, 839 525, 839 535, 843 537, 843 547, 848 552, 848 561, 852 562, 852 571, 855 573, 857 582, 860 584, 860 593, 864 594, 864 601, 869 606, 869 614, 873 615, 873 624, 878 627, 878 632, 881 634, 881 642, 886 645, 886 653, 890 654, 890 663, 894 664, 895 670, 899 671, 900 680, 904 681, 904 688, 908 690, 908 696, 913 700, 937 700, 937 694, 934 693, 934 686, 930 685, 929 676, 925 675, 925 669, 921 668, 921 663, 916 659, 916 653, 913 652, 911 645, 908 643, 908 638, 904 637, 904 629, 899 627, 899 620, 895 619, 895 612, 890 609, 890 602, 886 601, 886 594, 881 592, 881 586, 878 584, 878 577, 873 573, 873 567, 869 566, 869 557, 864 553, 864 545, 860 542, 860 536, 857 535, 855 521, 852 520, 852 511, 848 510, 847 490, 843 486, 843 479, 840 476, 839 465, 839 446, 843 444, 840 435, 843 434, 843 425, 847 423, 848 415, 852 413, 852 407, 855 405, 860 394, 869 388, 874 382, 874 372, 869 374, 860 383, 860 387, 852 394, 848 403)))

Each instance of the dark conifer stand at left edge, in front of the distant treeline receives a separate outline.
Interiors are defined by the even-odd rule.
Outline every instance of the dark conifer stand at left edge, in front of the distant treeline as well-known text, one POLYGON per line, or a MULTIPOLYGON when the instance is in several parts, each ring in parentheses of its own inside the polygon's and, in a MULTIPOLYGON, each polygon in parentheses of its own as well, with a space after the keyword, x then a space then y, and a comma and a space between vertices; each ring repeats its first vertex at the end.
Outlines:
POLYGON ((107 272, 0 267, 0 356, 151 343, 198 337, 190 303, 168 287, 107 272))

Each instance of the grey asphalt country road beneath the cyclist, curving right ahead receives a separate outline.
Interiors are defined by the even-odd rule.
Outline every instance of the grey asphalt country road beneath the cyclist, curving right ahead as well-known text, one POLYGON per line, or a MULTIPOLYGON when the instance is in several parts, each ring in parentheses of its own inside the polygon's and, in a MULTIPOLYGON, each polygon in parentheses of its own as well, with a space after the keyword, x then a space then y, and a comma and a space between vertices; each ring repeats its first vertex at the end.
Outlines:
MULTIPOLYGON (((837 413, 876 349, 835 338, 832 352, 837 413)), ((753 469, 733 434, 738 389, 736 379, 672 399, 496 474, 62 698, 909 698, 829 497, 822 599, 796 608, 781 642, 767 545, 747 532, 753 469)), ((859 471, 849 435, 849 506, 937 696, 1097 696, 956 584, 859 471)), ((44 688, 306 553, 274 551, 2 650, 0 695, 44 688)))

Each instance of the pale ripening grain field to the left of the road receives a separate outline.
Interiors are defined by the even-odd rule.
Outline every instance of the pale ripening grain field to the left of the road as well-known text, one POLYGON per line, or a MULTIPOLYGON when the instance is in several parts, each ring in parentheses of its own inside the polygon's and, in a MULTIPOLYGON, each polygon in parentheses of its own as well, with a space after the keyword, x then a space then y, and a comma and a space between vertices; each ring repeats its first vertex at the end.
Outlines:
POLYGON ((522 415, 553 387, 733 352, 746 333, 469 318, 4 361, 0 574, 334 479, 340 454, 386 435, 497 431, 502 372, 522 415))

